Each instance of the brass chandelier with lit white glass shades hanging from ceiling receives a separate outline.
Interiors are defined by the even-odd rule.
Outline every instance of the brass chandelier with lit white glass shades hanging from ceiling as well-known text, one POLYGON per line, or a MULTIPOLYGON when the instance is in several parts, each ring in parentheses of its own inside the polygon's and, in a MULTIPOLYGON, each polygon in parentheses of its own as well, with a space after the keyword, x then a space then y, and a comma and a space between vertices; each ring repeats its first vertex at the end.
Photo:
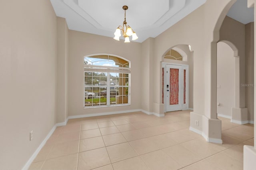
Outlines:
POLYGON ((123 26, 119 25, 116 29, 116 32, 114 33, 115 37, 114 39, 119 41, 119 37, 121 37, 121 31, 124 37, 124 42, 125 43, 130 43, 130 39, 129 36, 132 36, 132 40, 136 40, 138 39, 138 36, 136 35, 136 33, 132 30, 132 28, 127 24, 126 22, 126 10, 128 9, 128 6, 123 6, 123 10, 124 10, 124 22, 123 22, 123 26))

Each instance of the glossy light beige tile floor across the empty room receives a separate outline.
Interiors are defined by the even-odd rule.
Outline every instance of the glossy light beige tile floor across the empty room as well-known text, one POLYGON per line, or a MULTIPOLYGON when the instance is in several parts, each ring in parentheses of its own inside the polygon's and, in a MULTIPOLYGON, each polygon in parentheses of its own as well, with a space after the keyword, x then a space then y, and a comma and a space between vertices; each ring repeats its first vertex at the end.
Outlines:
POLYGON ((223 144, 189 130, 190 110, 70 119, 57 127, 30 170, 242 170, 254 125, 222 120, 223 144))

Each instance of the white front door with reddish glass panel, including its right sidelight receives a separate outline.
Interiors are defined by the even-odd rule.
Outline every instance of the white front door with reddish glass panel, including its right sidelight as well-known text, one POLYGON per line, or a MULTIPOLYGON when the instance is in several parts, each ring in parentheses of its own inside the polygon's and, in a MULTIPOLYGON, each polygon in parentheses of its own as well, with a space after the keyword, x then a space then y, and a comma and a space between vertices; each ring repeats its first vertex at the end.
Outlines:
POLYGON ((188 109, 187 66, 166 64, 166 112, 188 109))

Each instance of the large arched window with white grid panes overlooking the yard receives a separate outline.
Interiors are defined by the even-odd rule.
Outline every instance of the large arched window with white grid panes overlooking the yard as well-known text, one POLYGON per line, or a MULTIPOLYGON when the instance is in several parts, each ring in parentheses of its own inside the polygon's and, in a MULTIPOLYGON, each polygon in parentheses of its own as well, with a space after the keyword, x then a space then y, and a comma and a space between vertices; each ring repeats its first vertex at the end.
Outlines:
POLYGON ((84 108, 130 104, 130 61, 114 55, 84 57, 84 108))

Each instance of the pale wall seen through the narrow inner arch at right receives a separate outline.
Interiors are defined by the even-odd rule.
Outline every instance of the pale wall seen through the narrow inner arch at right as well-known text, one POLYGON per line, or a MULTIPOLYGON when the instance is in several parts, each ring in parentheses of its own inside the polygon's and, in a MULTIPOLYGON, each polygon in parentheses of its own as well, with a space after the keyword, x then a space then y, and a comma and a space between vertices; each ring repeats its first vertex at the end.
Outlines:
POLYGON ((231 118, 235 106, 235 57, 223 42, 217 44, 217 87, 217 113, 231 118))

